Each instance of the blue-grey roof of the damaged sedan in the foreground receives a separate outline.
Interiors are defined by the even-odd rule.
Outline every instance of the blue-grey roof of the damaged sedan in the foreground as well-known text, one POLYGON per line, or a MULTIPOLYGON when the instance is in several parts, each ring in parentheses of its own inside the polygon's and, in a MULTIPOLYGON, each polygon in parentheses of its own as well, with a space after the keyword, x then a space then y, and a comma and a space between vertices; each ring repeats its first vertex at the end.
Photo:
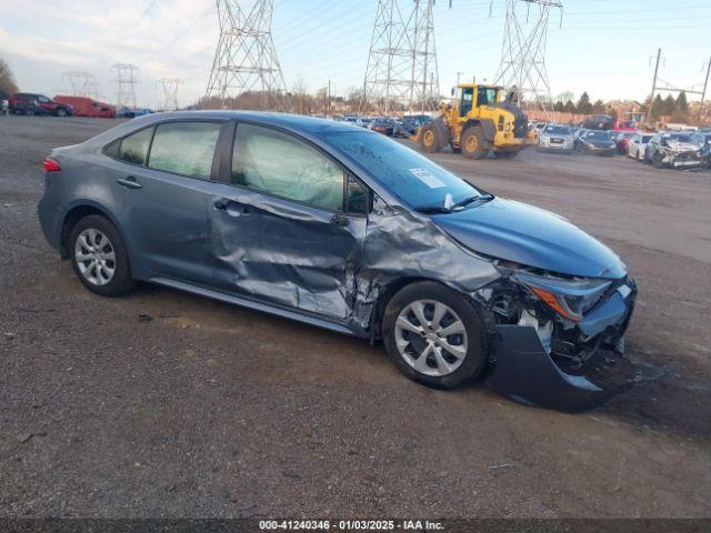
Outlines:
POLYGON ((304 133, 318 134, 330 131, 362 131, 358 127, 336 122, 333 120, 302 114, 274 113, 266 111, 233 111, 233 110, 204 110, 204 111, 176 111, 170 113, 156 113, 134 119, 138 124, 148 125, 154 122, 178 119, 208 119, 208 120, 244 120, 259 122, 264 125, 281 127, 304 133))

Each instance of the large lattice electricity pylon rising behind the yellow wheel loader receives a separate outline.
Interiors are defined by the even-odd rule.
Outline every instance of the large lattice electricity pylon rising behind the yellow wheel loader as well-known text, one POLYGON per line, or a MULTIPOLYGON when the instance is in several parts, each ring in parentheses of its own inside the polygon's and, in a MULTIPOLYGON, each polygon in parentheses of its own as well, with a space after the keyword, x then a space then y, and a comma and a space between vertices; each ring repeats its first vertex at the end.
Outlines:
POLYGON ((545 70, 548 22, 557 0, 507 0, 501 63, 494 83, 515 89, 517 103, 525 102, 550 113, 551 88, 545 70), (525 12, 523 12, 525 11, 525 12))

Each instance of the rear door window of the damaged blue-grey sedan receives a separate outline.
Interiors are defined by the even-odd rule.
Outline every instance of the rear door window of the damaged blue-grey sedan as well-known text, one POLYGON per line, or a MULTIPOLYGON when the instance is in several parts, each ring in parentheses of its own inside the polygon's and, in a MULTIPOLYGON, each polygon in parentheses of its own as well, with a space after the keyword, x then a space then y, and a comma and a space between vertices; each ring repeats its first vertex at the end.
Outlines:
POLYGON ((209 180, 221 123, 166 122, 156 128, 148 167, 209 180))

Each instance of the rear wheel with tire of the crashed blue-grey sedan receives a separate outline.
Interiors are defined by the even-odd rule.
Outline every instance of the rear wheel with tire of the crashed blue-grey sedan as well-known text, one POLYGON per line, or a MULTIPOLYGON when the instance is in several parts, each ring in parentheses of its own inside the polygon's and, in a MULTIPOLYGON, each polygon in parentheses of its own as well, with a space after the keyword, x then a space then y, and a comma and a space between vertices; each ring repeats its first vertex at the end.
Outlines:
POLYGON ((69 253, 77 278, 94 294, 118 296, 136 286, 123 239, 106 218, 91 214, 79 220, 71 230, 69 253))

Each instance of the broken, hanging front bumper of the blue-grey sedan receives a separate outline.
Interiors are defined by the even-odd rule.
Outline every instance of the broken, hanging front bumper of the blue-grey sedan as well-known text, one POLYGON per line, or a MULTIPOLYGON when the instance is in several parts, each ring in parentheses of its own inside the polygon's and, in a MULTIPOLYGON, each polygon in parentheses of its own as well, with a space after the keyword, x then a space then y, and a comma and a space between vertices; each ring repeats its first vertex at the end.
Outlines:
MULTIPOLYGON (((614 288, 585 318, 551 338, 532 325, 505 323, 492 313, 492 350, 485 382, 527 405, 565 412, 589 411, 612 396, 662 375, 624 355, 624 331, 634 306, 632 281, 614 288), (579 341, 575 342, 575 339, 579 341)), ((494 309, 495 291, 479 292, 494 309)), ((540 313, 540 310, 539 310, 540 313)))

